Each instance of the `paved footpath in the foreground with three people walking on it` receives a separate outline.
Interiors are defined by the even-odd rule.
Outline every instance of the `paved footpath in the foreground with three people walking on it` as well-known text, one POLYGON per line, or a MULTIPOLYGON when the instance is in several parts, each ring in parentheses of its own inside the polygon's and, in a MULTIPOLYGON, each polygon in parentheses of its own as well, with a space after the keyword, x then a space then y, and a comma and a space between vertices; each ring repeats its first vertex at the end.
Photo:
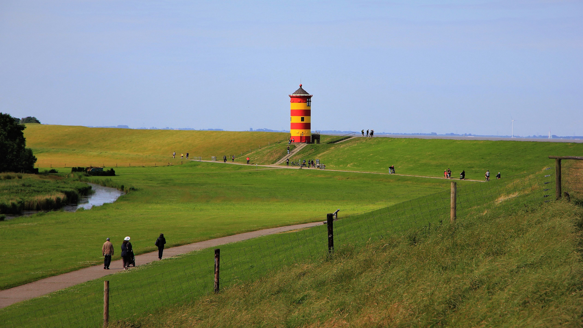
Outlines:
MULTIPOLYGON (((264 235, 272 235, 273 233, 279 233, 302 228, 310 228, 311 226, 321 224, 322 222, 312 222, 307 224, 280 226, 279 228, 270 228, 258 231, 244 232, 239 233, 238 235, 226 236, 216 239, 205 240, 203 242, 171 247, 168 249, 164 249, 164 258, 175 256, 178 254, 185 254, 188 252, 192 252, 193 250, 215 247, 227 243, 240 242, 241 240, 247 240, 264 235)), ((156 252, 136 256, 136 266, 157 260, 158 251, 156 250, 156 252)), ((44 278, 38 281, 30 282, 29 284, 20 285, 18 287, 5 289, 3 291, 0 291, 0 308, 5 308, 6 306, 12 305, 17 302, 25 301, 26 299, 46 295, 51 292, 58 291, 59 289, 64 289, 76 284, 81 284, 82 282, 102 278, 108 274, 113 274, 121 270, 123 270, 122 261, 117 260, 111 262, 110 270, 104 270, 103 265, 87 267, 69 273, 55 275, 54 277, 44 278)))

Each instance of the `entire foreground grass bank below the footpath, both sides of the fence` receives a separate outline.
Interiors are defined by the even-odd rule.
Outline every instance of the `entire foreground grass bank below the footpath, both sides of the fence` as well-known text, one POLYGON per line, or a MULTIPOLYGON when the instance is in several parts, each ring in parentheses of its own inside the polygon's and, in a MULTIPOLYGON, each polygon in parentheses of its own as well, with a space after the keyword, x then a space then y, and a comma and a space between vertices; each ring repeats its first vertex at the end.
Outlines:
MULTIPOLYGON (((371 312, 363 309, 370 309, 383 326, 396 302, 414 309, 395 313, 403 322, 428 326, 430 320, 458 324, 456 318, 481 302, 484 310, 475 312, 497 322, 508 318, 500 313, 521 311, 527 319, 574 320, 581 310, 581 295, 573 293, 580 293, 582 273, 574 254, 581 212, 560 202, 542 207, 545 191, 535 181, 546 186, 552 177, 540 179, 461 187, 461 215, 454 226, 442 221, 449 213, 448 191, 343 218, 335 224, 333 257, 325 255, 325 226, 222 245, 226 289, 219 295, 210 295, 212 249, 110 275, 111 318, 120 327, 328 326, 331 320, 367 326, 371 312), (524 186, 528 192, 522 195, 530 197, 506 198, 524 186), (189 301, 192 306, 171 306, 189 301)), ((0 310, 0 322, 98 326, 102 281, 9 306, 0 310)), ((470 316, 461 323, 475 320, 470 316)))

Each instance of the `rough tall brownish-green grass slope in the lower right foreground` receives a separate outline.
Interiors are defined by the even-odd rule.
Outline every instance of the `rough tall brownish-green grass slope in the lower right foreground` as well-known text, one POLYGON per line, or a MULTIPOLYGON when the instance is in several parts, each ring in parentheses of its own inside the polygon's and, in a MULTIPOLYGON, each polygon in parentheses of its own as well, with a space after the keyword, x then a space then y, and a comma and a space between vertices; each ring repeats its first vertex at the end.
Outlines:
POLYGON ((580 327, 582 211, 570 203, 459 219, 339 247, 115 327, 580 327))

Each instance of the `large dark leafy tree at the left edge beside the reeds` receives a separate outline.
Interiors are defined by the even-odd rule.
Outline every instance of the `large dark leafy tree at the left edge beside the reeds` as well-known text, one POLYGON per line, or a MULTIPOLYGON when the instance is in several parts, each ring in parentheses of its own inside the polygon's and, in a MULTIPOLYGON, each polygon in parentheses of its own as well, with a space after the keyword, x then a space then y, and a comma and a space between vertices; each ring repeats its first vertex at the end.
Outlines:
POLYGON ((36 157, 26 148, 25 128, 10 114, 0 113, 0 172, 33 172, 36 157))

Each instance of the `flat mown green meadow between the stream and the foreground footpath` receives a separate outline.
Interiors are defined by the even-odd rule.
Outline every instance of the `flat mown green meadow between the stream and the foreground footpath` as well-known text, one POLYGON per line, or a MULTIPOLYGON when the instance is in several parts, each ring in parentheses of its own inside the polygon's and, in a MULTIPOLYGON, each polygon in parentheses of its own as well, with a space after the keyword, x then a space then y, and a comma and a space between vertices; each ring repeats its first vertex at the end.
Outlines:
POLYGON ((115 203, 0 222, 0 288, 99 264, 107 237, 118 259, 125 236, 131 236, 136 253, 145 253, 156 248, 159 233, 166 236, 167 247, 184 245, 324 220, 336 208, 349 214, 449 188, 436 179, 205 162, 118 168, 116 173, 91 179, 137 189, 115 203))

